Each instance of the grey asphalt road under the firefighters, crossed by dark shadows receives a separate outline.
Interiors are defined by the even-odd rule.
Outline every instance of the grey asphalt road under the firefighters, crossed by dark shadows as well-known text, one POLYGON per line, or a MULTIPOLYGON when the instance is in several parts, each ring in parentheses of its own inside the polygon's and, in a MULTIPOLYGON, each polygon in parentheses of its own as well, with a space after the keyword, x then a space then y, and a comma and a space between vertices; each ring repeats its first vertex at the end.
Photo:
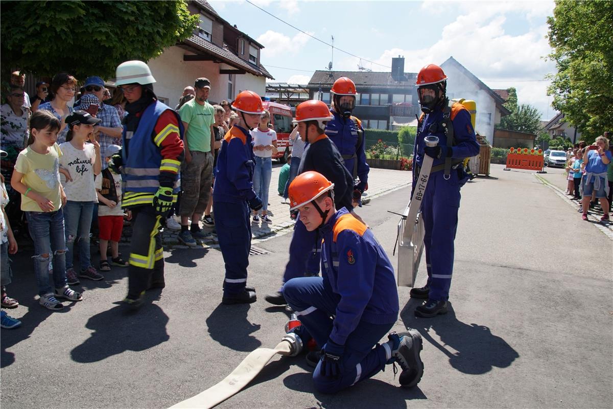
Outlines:
MULTIPOLYGON (((611 239, 532 172, 501 169, 462 189, 449 313, 415 318, 409 288, 399 289, 394 329, 424 337, 416 388, 399 388, 388 367, 319 394, 303 357, 284 357, 219 408, 613 407, 611 239)), ((386 210, 402 212, 408 194, 359 210, 394 261, 398 216, 386 210)), ((23 326, 1 332, 2 408, 167 408, 209 388, 282 337, 287 315, 264 294, 280 284, 290 239, 257 243, 268 253, 251 258, 254 304, 220 304, 218 250, 178 249, 165 254, 167 287, 136 314, 113 304, 126 292, 120 269, 82 281, 85 300, 65 312, 45 310, 29 254, 18 254, 9 291, 21 306, 9 314, 23 326)))

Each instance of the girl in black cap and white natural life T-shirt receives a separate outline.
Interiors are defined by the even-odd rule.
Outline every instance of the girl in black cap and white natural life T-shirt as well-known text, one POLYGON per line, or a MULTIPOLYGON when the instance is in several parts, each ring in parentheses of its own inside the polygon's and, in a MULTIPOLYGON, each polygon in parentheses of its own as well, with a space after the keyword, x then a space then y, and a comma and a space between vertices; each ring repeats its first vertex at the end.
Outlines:
POLYGON ((66 142, 59 148, 63 155, 59 159, 62 185, 68 199, 64 210, 66 224, 66 276, 69 284, 78 284, 77 273, 72 267, 74 245, 78 240, 79 261, 81 264, 78 277, 102 280, 91 264, 89 254, 89 230, 94 213, 94 204, 98 202, 94 176, 102 169, 100 144, 94 138, 94 125, 101 120, 88 112, 76 110, 66 118, 66 142), (89 143, 86 143, 89 142, 89 143))

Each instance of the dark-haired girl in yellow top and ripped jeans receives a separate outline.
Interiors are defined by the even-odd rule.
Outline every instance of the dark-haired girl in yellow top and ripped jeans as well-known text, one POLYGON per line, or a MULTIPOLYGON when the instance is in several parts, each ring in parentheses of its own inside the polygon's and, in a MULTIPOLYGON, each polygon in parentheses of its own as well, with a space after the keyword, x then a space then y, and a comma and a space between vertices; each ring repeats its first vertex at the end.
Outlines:
POLYGON ((66 194, 59 183, 59 120, 39 110, 30 119, 28 146, 19 153, 11 178, 13 189, 21 193, 21 210, 28 218, 34 241, 34 272, 39 288, 39 303, 49 310, 62 310, 58 298, 83 299, 66 283, 66 239, 64 212, 66 194), (53 287, 49 264, 53 261, 53 287))

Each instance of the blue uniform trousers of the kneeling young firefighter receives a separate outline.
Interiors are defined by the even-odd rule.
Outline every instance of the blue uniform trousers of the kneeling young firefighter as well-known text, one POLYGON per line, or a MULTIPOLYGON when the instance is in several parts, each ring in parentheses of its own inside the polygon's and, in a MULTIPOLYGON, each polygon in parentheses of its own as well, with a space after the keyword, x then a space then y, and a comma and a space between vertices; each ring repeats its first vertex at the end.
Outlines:
MULTIPOLYGON (((332 292, 327 278, 293 278, 283 286, 283 296, 317 344, 324 345, 332 331, 331 316, 336 313, 340 300, 340 296, 332 292)), ((378 342, 392 326, 393 323, 371 324, 360 321, 345 343, 342 375, 338 378, 322 376, 320 361, 313 372, 315 388, 324 393, 338 392, 384 369, 386 351, 378 342)))

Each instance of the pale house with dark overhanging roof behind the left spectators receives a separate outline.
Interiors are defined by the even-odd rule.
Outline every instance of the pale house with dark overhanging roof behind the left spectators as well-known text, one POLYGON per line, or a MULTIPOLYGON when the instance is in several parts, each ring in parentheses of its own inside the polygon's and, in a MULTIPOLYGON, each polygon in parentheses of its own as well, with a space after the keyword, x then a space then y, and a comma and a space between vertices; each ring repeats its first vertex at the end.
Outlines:
POLYGON ((205 0, 189 1, 188 8, 200 16, 196 31, 148 61, 159 99, 174 107, 183 88, 194 86, 199 77, 211 82, 211 103, 232 101, 245 90, 264 96, 266 78, 274 79, 260 60, 264 46, 224 20, 205 0))

